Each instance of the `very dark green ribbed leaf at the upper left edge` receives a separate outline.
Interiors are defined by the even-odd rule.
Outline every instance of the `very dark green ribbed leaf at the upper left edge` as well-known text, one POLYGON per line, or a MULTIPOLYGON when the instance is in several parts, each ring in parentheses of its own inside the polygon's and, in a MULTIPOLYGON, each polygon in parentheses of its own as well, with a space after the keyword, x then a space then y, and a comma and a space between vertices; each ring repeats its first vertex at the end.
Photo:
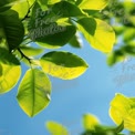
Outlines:
POLYGON ((6 41, 10 50, 15 49, 23 40, 24 29, 18 13, 8 10, 0 14, 0 38, 6 41))

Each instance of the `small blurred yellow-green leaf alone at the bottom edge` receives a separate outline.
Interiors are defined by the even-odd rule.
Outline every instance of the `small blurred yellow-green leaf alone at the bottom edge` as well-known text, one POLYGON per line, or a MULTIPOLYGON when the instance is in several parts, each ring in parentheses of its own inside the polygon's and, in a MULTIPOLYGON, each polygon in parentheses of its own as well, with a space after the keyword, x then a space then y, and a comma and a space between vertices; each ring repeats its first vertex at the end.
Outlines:
POLYGON ((66 127, 64 127, 63 125, 61 125, 59 123, 50 121, 46 123, 45 126, 51 135, 70 135, 66 127))

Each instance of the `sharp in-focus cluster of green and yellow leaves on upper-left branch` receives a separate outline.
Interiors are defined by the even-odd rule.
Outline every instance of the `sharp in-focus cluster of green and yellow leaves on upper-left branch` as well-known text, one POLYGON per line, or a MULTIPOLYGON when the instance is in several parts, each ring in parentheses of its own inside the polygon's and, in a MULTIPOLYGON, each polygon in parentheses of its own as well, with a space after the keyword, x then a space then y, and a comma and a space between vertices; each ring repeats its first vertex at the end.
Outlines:
POLYGON ((44 49, 58 49, 66 43, 80 46, 77 35, 82 33, 94 49, 111 52, 115 42, 114 30, 90 13, 91 10, 102 10, 107 2, 1 1, 0 93, 7 93, 15 86, 21 75, 21 63, 24 62, 30 70, 25 72, 18 89, 19 105, 31 117, 46 107, 52 90, 48 74, 72 80, 83 74, 89 65, 71 52, 44 53, 44 49))

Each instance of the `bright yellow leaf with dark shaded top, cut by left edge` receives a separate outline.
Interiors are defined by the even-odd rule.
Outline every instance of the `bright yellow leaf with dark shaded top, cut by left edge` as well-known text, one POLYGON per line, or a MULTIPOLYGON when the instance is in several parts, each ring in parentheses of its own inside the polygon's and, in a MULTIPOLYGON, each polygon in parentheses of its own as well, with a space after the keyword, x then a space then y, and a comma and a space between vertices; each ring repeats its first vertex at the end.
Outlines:
POLYGON ((21 75, 20 62, 14 55, 0 49, 0 94, 9 92, 21 75))

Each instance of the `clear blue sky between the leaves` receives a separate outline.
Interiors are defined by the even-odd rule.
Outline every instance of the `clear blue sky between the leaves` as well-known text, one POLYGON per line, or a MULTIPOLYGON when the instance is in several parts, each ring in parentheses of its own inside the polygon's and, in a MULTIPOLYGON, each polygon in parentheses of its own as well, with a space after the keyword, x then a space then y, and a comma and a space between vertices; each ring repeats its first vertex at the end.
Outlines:
MULTIPOLYGON (((128 72, 134 74, 134 70, 128 71, 127 68, 135 61, 126 63, 126 70, 123 72, 123 64, 108 68, 105 54, 92 49, 85 41, 80 50, 69 45, 60 50, 71 51, 82 56, 90 64, 90 69, 72 81, 50 76, 53 86, 52 101, 33 118, 28 117, 18 105, 17 86, 11 92, 0 95, 0 135, 49 135, 44 127, 46 121, 60 122, 70 128, 72 135, 79 135, 82 129, 81 117, 84 113, 93 113, 103 124, 113 125, 108 116, 108 107, 115 93, 135 95, 135 80, 125 81, 123 85, 116 86, 115 79, 128 72)), ((24 73, 25 66, 22 66, 22 71, 24 73)))

